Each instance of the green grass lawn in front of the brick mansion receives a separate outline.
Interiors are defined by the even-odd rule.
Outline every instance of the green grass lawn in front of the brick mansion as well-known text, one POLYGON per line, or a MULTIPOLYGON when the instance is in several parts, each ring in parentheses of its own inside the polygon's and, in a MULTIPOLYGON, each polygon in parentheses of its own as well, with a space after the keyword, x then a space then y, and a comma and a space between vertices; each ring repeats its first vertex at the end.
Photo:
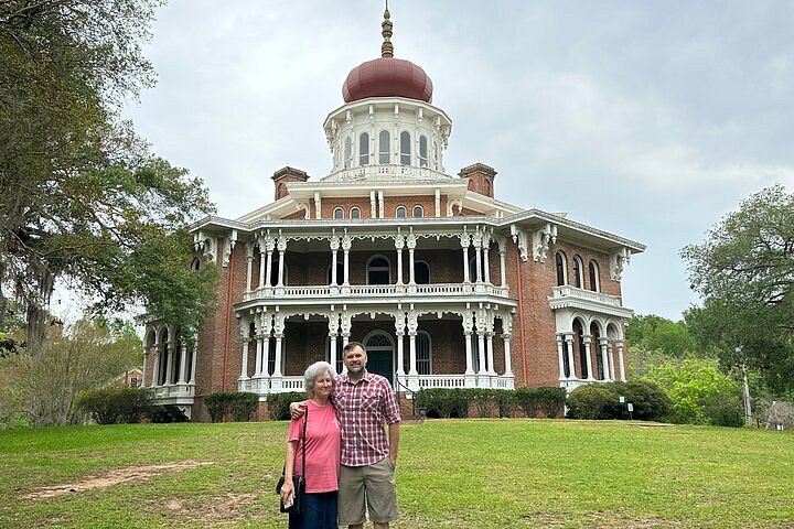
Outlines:
MULTIPOLYGON (((283 528, 273 486, 286 433, 283 422, 0 431, 0 527, 283 528), (163 463, 185 467, 149 467, 163 463), (64 484, 76 492, 31 497, 64 484)), ((406 425, 394 527, 794 528, 793 442, 624 422, 406 425)))

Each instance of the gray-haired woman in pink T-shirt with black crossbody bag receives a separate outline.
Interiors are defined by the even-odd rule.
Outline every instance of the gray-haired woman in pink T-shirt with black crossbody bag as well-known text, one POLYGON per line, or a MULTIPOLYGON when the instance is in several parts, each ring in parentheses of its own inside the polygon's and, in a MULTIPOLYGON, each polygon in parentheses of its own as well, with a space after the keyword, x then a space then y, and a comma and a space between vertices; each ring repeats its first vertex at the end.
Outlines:
POLYGON ((336 373, 331 364, 316 361, 303 374, 308 413, 293 419, 287 436, 285 484, 281 499, 294 494, 292 475, 301 475, 303 421, 305 429, 305 506, 303 515, 289 515, 290 529, 336 529, 336 493, 340 468, 340 425, 329 400, 336 373))

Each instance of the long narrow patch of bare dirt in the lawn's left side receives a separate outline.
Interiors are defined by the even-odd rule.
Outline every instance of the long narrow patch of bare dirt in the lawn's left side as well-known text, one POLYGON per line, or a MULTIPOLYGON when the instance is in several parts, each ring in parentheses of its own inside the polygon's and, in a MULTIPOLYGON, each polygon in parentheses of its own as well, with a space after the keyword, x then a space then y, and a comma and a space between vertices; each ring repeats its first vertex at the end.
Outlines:
POLYGON ((88 474, 76 482, 34 488, 22 497, 25 499, 47 499, 73 493, 83 493, 95 488, 107 488, 124 483, 139 482, 159 476, 167 472, 185 471, 198 466, 212 465, 211 462, 181 461, 176 463, 155 463, 151 465, 122 466, 110 468, 96 474, 88 474))

